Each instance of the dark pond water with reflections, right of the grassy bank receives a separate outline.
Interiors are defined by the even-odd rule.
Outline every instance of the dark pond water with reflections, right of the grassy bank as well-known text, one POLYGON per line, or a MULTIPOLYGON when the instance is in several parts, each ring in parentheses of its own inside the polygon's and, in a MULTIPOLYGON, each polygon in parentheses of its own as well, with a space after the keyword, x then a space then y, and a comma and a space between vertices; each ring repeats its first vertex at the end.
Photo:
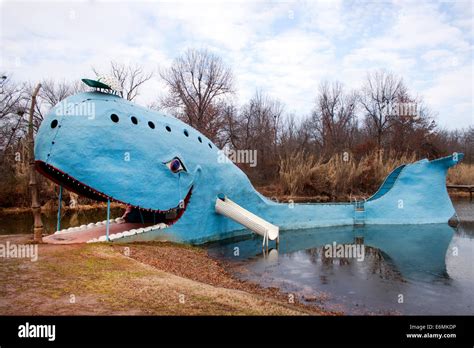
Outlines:
POLYGON ((318 228, 283 231, 278 249, 268 252, 262 251, 258 237, 208 248, 211 256, 228 261, 237 277, 280 288, 289 299, 293 296, 327 310, 472 315, 474 203, 454 204, 462 220, 457 228, 447 224, 318 228), (339 245, 350 245, 359 253, 331 253, 341 250, 339 245))

